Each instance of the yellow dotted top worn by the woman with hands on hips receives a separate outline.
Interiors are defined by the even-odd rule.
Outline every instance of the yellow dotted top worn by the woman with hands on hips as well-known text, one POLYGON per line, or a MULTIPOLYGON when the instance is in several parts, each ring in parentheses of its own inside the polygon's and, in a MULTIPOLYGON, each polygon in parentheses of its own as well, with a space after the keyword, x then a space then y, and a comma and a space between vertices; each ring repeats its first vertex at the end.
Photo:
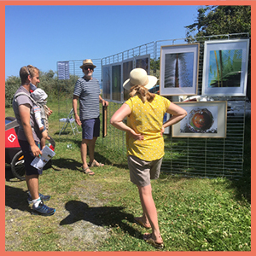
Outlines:
POLYGON ((146 161, 159 160, 165 154, 164 138, 160 131, 164 114, 171 102, 165 97, 155 95, 152 102, 143 103, 138 96, 134 96, 125 103, 131 108, 127 125, 144 136, 143 141, 138 141, 126 133, 127 154, 146 161))

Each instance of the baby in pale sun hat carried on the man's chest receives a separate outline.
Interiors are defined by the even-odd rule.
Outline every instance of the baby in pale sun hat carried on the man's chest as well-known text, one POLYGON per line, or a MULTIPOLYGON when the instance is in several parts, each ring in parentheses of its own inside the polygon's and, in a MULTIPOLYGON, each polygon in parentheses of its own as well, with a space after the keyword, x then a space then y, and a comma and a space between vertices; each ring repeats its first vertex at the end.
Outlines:
POLYGON ((35 114, 35 119, 39 127, 39 131, 42 132, 42 138, 41 138, 41 146, 44 148, 45 141, 48 138, 48 117, 49 117, 49 108, 46 106, 46 99, 48 95, 45 93, 44 90, 40 88, 36 88, 31 93, 32 98, 35 100, 35 102, 38 103, 38 105, 34 104, 33 106, 33 112, 35 114))

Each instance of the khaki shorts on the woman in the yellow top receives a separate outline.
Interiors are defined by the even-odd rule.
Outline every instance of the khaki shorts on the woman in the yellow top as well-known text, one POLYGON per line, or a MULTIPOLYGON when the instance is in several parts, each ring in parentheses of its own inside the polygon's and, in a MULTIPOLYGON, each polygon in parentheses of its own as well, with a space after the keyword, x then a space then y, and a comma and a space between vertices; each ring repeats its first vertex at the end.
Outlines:
POLYGON ((162 160, 145 161, 134 155, 128 155, 128 167, 130 169, 130 179, 139 187, 145 187, 150 184, 150 179, 156 179, 160 176, 162 160))

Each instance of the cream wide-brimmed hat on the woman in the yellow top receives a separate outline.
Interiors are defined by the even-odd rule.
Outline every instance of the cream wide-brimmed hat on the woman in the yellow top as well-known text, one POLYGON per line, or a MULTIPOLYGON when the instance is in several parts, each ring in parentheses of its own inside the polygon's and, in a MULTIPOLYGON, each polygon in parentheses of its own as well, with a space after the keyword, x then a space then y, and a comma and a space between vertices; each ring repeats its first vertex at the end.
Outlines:
POLYGON ((134 68, 131 70, 130 79, 127 79, 123 84, 125 90, 130 90, 134 85, 143 85, 148 90, 154 87, 157 78, 147 74, 143 68, 134 68))

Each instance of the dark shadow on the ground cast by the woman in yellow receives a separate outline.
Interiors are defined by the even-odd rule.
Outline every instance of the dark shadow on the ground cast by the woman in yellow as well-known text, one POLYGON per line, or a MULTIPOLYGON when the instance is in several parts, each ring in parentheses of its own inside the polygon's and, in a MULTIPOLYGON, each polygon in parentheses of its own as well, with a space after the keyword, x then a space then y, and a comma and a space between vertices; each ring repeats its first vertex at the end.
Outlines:
POLYGON ((73 224, 84 220, 98 226, 119 226, 131 236, 137 233, 137 230, 124 223, 123 220, 133 223, 133 215, 122 212, 124 207, 89 207, 82 201, 68 201, 65 207, 69 215, 61 220, 60 225, 73 224))

